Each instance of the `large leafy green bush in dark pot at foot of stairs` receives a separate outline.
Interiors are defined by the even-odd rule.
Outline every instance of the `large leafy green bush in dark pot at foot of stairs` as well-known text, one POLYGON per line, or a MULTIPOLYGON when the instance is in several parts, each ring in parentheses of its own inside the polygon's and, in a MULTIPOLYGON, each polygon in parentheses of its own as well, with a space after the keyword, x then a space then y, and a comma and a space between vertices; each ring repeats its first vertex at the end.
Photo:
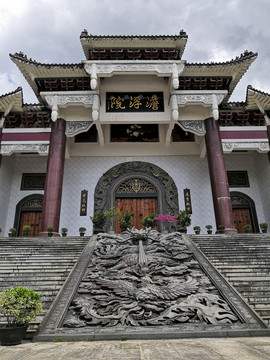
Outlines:
POLYGON ((41 295, 26 287, 14 287, 0 293, 0 313, 7 324, 0 327, 2 345, 20 344, 31 320, 42 311, 41 295))

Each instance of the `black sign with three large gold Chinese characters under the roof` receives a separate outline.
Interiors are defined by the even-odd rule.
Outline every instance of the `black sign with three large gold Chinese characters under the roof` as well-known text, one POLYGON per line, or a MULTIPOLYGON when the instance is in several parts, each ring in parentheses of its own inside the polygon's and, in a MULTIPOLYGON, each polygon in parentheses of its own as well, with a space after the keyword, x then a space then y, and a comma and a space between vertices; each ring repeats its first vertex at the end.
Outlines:
POLYGON ((107 93, 106 112, 162 112, 162 92, 107 93))

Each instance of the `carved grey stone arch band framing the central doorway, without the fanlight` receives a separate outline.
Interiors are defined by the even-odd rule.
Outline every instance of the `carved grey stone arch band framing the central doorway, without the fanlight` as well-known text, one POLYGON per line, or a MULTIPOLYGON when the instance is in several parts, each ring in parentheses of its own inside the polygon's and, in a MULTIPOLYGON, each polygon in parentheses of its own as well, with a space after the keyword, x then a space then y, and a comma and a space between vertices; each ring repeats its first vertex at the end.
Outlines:
POLYGON ((110 206, 114 206, 114 203, 108 205, 107 202, 108 198, 113 199, 114 194, 111 192, 116 190, 113 190, 114 184, 120 179, 122 179, 122 183, 125 181, 125 176, 130 177, 131 175, 134 175, 135 178, 146 177, 145 180, 157 184, 158 196, 163 203, 162 210, 171 215, 179 213, 178 191, 173 179, 158 166, 141 161, 116 165, 100 178, 95 189, 94 212, 104 212, 110 206))

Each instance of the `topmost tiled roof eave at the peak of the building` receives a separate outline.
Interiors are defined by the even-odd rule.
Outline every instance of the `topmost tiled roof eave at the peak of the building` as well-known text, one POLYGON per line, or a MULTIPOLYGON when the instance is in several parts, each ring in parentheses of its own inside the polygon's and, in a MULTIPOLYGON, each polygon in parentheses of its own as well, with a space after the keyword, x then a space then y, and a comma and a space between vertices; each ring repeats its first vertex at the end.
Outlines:
POLYGON ((83 36, 80 38, 84 55, 89 60, 89 50, 96 48, 169 48, 179 50, 179 59, 184 53, 187 36, 83 36))

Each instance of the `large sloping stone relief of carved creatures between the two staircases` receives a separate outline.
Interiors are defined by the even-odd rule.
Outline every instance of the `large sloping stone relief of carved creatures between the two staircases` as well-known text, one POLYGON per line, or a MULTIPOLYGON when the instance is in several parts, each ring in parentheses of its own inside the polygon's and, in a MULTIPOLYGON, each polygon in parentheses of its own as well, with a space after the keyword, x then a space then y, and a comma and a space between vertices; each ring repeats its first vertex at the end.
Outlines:
POLYGON ((180 233, 133 228, 99 234, 63 325, 239 323, 180 233))

